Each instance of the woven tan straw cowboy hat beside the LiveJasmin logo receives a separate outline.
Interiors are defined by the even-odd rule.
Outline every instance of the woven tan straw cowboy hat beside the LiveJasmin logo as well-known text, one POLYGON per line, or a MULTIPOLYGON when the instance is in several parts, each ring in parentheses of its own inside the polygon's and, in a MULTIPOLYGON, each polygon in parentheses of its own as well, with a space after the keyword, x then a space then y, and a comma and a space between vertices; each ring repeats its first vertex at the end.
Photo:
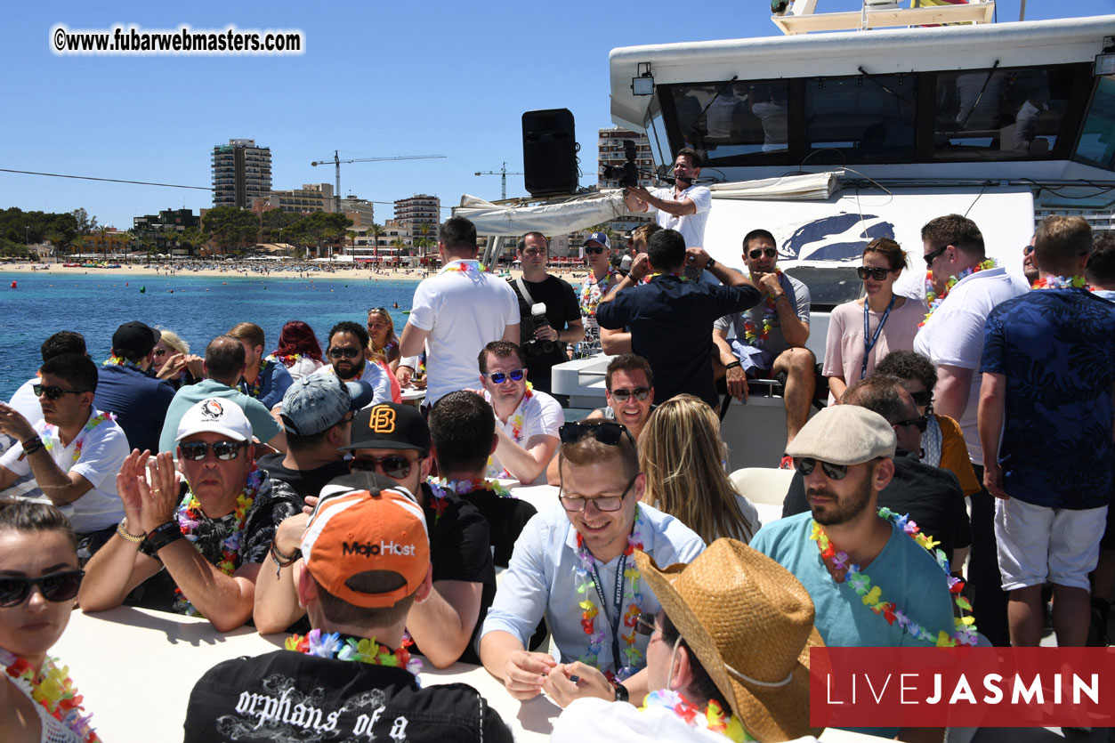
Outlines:
POLYGON ((809 648, 824 647, 813 600, 784 567, 718 539, 689 565, 636 565, 744 728, 758 741, 816 735, 809 727, 809 648))

